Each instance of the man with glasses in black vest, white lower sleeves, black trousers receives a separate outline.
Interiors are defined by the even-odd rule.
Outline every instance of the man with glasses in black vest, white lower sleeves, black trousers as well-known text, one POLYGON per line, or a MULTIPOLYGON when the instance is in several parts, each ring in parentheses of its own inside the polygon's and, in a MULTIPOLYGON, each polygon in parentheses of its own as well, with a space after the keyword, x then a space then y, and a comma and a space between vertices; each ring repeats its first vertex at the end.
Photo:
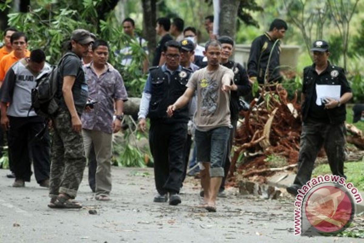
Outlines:
POLYGON ((149 146, 154 159, 155 187, 158 195, 154 202, 181 203, 179 188, 183 177, 183 148, 187 139, 188 106, 167 116, 167 107, 185 92, 191 70, 179 65, 181 45, 170 40, 163 46, 163 66, 151 67, 139 109, 139 127, 146 129, 150 118, 149 146))

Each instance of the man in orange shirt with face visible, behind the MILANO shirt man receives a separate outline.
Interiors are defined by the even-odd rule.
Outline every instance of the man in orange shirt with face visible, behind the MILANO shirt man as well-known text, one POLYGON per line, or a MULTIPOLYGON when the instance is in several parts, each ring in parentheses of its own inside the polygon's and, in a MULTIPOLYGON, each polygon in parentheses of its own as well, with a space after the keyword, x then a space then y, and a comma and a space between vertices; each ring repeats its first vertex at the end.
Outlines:
POLYGON ((0 60, 1 83, 4 80, 6 72, 15 62, 30 55, 30 51, 27 50, 28 39, 23 32, 14 32, 10 37, 10 43, 13 51, 0 60))

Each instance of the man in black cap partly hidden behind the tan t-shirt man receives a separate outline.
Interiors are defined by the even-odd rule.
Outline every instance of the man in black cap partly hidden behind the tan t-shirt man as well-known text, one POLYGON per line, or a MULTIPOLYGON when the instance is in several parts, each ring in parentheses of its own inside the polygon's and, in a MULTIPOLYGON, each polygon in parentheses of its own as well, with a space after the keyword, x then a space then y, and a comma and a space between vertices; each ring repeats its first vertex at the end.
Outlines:
POLYGON ((230 56, 233 53, 234 41, 229 36, 221 36, 218 38, 218 41, 221 43, 222 52, 221 52, 221 64, 227 68, 230 68, 234 72, 234 83, 232 84, 232 88, 230 90, 230 121, 233 129, 230 129, 230 138, 227 143, 227 153, 226 160, 224 165, 225 175, 222 179, 222 183, 219 190, 219 197, 226 197, 223 191, 225 190, 225 180, 227 173, 230 169, 230 151, 233 145, 233 139, 235 137, 236 126, 239 119, 239 98, 240 96, 247 95, 251 92, 252 87, 249 83, 248 74, 243 66, 240 63, 229 60, 230 56))

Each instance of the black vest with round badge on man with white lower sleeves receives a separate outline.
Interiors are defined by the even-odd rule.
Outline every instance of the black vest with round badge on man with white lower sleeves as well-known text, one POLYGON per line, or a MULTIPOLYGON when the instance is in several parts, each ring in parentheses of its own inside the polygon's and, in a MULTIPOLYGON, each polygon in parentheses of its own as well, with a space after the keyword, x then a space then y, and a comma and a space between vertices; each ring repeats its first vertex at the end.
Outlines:
POLYGON ((187 68, 175 71, 172 75, 163 72, 162 67, 150 68, 151 99, 149 103, 148 117, 161 122, 188 122, 188 105, 174 111, 172 117, 167 117, 167 107, 173 105, 177 99, 185 93, 186 84, 192 71, 187 68))

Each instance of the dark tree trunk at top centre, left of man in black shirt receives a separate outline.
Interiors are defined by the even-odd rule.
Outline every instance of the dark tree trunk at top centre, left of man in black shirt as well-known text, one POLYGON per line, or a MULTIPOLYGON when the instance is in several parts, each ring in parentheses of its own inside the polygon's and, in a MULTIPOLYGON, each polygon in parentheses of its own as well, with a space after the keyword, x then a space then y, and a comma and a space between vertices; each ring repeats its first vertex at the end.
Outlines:
POLYGON ((143 33, 145 39, 148 41, 149 62, 153 60, 155 47, 157 46, 155 39, 155 26, 156 23, 156 5, 154 0, 142 0, 143 7, 143 33))

